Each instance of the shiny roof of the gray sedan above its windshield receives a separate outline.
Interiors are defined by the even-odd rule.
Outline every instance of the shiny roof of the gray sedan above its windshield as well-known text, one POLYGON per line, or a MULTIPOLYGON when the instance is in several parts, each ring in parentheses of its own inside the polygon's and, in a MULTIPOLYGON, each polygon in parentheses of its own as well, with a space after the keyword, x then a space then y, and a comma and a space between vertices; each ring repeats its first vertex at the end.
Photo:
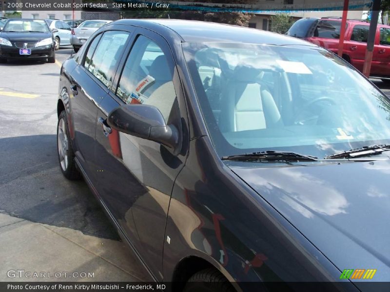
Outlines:
POLYGON ((115 24, 145 27, 157 33, 175 33, 183 42, 242 42, 316 47, 295 37, 215 22, 181 19, 120 19, 110 23, 110 25, 115 24))

